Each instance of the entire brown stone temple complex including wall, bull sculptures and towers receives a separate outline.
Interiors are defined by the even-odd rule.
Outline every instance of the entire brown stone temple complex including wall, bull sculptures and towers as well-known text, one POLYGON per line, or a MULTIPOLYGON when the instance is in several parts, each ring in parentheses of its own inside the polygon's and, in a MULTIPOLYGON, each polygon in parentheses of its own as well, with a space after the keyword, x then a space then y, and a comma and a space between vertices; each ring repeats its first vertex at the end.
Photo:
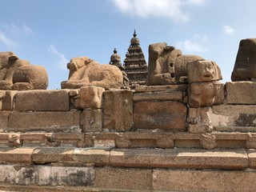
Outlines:
POLYGON ((136 33, 128 50, 126 71, 117 50, 111 65, 71 58, 61 90, 0 52, 0 191, 255 191, 256 39, 225 83, 166 42, 149 46, 148 77, 136 33))

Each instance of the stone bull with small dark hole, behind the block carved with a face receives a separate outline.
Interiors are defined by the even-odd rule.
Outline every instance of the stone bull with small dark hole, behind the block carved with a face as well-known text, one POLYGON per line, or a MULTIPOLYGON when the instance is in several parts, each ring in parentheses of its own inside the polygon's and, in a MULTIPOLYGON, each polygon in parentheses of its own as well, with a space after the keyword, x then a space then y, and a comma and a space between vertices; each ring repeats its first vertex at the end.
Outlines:
POLYGON ((186 82, 187 62, 202 59, 198 55, 182 54, 166 42, 149 46, 149 72, 146 85, 168 85, 186 82))

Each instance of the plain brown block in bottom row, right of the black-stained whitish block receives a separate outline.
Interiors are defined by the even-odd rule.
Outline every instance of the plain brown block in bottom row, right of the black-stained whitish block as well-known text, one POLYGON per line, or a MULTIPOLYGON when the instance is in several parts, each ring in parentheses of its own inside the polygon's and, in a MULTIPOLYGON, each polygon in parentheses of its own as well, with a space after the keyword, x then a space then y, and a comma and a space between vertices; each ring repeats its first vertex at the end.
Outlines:
POLYGON ((152 170, 119 168, 95 170, 95 187, 106 190, 152 190, 152 170))

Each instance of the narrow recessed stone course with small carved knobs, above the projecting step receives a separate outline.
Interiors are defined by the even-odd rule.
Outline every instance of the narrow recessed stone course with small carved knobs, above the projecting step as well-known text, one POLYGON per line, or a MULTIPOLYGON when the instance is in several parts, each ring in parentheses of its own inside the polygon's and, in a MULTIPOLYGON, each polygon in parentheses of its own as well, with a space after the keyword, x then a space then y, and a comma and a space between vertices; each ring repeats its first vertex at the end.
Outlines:
POLYGON ((90 147, 94 148, 198 148, 256 149, 256 133, 213 132, 190 134, 173 132, 110 133, 0 133, 0 147, 90 147), (210 140, 206 139, 210 138, 210 140), (206 139, 206 140, 205 140, 206 139), (215 144, 214 144, 215 143, 215 144))

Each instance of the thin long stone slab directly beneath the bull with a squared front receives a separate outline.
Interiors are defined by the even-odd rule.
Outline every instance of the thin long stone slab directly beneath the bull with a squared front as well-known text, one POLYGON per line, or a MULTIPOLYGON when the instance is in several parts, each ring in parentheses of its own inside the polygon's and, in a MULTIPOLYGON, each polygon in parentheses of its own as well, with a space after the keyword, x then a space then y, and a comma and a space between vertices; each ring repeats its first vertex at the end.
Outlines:
POLYGON ((135 92, 155 92, 155 91, 186 91, 186 84, 167 86, 136 86, 135 92))

